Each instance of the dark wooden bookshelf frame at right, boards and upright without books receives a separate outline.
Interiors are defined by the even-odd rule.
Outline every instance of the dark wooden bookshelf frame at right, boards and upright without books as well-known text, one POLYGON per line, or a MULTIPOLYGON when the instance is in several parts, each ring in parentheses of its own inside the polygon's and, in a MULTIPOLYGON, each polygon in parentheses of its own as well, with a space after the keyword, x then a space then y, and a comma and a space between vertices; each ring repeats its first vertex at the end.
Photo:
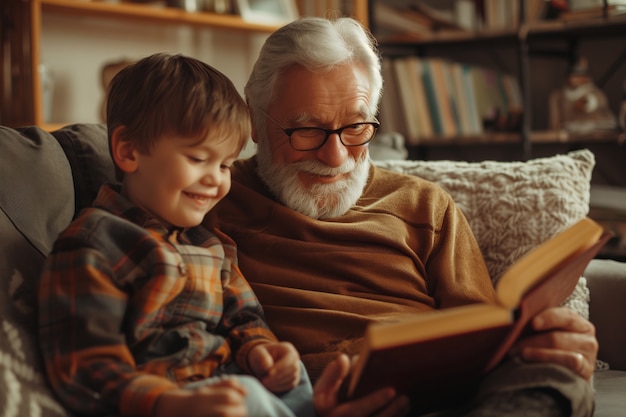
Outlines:
MULTIPOLYGON (((383 0, 379 0, 382 2, 383 0)), ((523 0, 516 0, 520 3, 520 10, 523 0)), ((511 1, 513 2, 513 0, 511 1)), ((370 4, 373 3, 370 2, 370 4)), ((401 14, 401 8, 400 13, 401 14)), ((586 14, 584 18, 576 19, 554 19, 539 20, 531 23, 510 25, 497 29, 486 29, 480 31, 463 30, 459 28, 434 30, 432 32, 402 32, 397 34, 382 35, 378 37, 381 52, 390 60, 401 59, 404 56, 417 56, 419 58, 441 56, 444 60, 454 61, 454 56, 461 55, 465 61, 471 62, 468 65, 476 65, 474 56, 466 54, 465 50, 473 48, 484 54, 483 61, 489 62, 488 66, 496 66, 499 69, 511 70, 511 59, 517 59, 517 73, 514 76, 520 86, 524 111, 530 117, 521 119, 519 130, 508 133, 485 132, 480 136, 453 136, 453 137, 410 137, 406 131, 408 128, 396 123, 399 128, 405 128, 408 145, 414 148, 428 147, 482 147, 484 145, 519 147, 522 159, 529 159, 532 156, 534 145, 556 145, 562 143, 576 143, 582 145, 593 144, 617 144, 621 146, 625 140, 625 134, 620 132, 594 132, 590 134, 569 134, 565 131, 535 131, 533 127, 542 127, 547 123, 540 122, 534 124, 532 118, 533 101, 531 80, 531 55, 540 54, 555 57, 558 59, 571 59, 577 53, 581 38, 594 38, 595 40, 608 38, 611 40, 623 39, 626 31, 626 14, 615 14, 615 9, 594 10, 596 15, 586 14), (517 26, 517 27, 515 27, 517 26), (544 42, 546 41, 546 42, 544 42), (541 47, 549 49, 540 50, 541 47), (502 48, 501 48, 502 47, 502 48), (503 52, 504 51, 504 52, 503 52), (514 54, 514 55, 513 55, 514 54), (452 57, 451 57, 452 56, 452 57), (504 57, 504 58, 503 58, 504 57)), ((402 20, 397 16, 398 20, 402 20)), ((373 30, 376 32, 376 19, 372 19, 373 30)), ((433 19, 434 20, 434 19, 433 19)), ((398 24, 397 28, 407 27, 398 24)), ((427 25, 424 25, 427 27, 427 25)), ((392 32, 393 20, 388 18, 381 20, 381 32, 392 32)), ((398 29, 401 30, 401 29, 398 29)), ((614 62, 607 66, 603 79, 606 80, 619 67, 620 59, 623 62, 624 51, 615 51, 614 62), (621 55, 620 55, 621 54, 621 55)), ((609 55, 607 57, 611 59, 609 55)), ((390 71, 397 70, 393 68, 390 71)), ((401 69, 400 72, 403 70, 401 69)), ((393 73, 392 73, 393 74, 393 73)), ((533 74, 534 76, 534 74, 533 74)), ((453 80, 454 81, 454 80, 453 80)), ((450 83, 448 83, 450 84, 450 83)), ((600 83, 601 84, 601 83, 600 83)), ((407 86, 403 86, 407 88, 407 86)), ((437 90, 437 89, 435 89, 437 90)), ((438 89, 441 91, 442 89, 438 89)), ((429 90, 430 91, 430 90, 429 90)), ((543 93, 543 92, 542 92, 543 93)), ((546 92, 546 95, 549 92, 546 92)), ((432 94, 432 93, 431 93, 432 94)), ((423 101, 421 101, 423 103, 423 101)), ((412 106, 409 106, 412 107, 412 106)), ((454 110, 453 110, 454 111, 454 110)), ((404 112, 406 113, 406 112, 404 112)), ((542 115, 543 116, 543 115, 542 115)), ((393 124, 397 120, 390 119, 393 124)), ((448 122, 449 123, 449 122, 448 122)), ((452 130, 452 129, 450 129, 452 130)), ((456 129, 459 131, 459 129, 456 129)), ((545 146, 543 146, 545 148, 545 146)))

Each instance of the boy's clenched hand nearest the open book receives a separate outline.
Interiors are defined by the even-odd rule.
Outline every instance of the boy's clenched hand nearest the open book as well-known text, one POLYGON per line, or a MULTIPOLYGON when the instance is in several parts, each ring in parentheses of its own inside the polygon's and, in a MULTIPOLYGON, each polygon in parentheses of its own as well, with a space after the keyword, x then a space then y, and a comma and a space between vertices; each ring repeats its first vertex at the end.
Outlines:
POLYGON ((289 391, 300 382, 300 355, 291 343, 257 345, 248 355, 248 364, 271 392, 289 391))

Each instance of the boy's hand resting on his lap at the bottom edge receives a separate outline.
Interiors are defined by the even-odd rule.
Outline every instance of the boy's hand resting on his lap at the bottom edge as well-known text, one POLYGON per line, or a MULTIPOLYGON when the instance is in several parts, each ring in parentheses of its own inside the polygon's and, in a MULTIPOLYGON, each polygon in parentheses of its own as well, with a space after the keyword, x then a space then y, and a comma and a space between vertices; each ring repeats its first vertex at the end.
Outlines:
POLYGON ((164 392, 154 407, 154 417, 247 417, 246 389, 235 378, 194 390, 164 392))

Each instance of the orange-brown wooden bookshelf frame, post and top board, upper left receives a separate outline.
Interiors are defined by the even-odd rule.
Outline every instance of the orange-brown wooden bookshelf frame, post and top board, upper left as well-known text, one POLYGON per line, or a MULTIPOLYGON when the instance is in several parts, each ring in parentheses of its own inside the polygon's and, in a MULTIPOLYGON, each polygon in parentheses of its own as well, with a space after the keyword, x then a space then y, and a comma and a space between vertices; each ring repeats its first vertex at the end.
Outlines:
MULTIPOLYGON (((10 83, 3 83, 3 90, 11 89, 10 102, 6 97, 2 103, 2 124, 8 126, 38 125, 55 130, 78 120, 61 120, 51 123, 44 120, 42 80, 39 73, 43 37, 42 20, 47 17, 67 19, 94 19, 94 21, 120 21, 127 25, 170 25, 190 28, 212 28, 237 33, 270 33, 275 26, 245 22, 239 16, 217 13, 189 13, 172 7, 151 7, 140 3, 112 3, 103 1, 77 0, 30 0, 10 1, 3 6, 3 20, 13 21, 8 34, 9 44, 3 45, 14 72, 10 83), (28 42, 23 42, 27 40, 28 42), (17 101, 17 102, 16 102, 17 101)), ((77 25, 78 26, 78 25, 77 25)), ((107 36, 106 31, 103 36, 107 36)), ((68 48, 69 45, 58 45, 68 48)), ((80 52, 77 51, 77 55, 80 52)), ((77 56, 78 60, 78 56, 77 56)), ((3 66, 3 76, 8 77, 11 69, 3 66)), ((71 75, 68 77, 71 78, 71 75)), ((5 94, 7 96, 7 94, 5 94)))

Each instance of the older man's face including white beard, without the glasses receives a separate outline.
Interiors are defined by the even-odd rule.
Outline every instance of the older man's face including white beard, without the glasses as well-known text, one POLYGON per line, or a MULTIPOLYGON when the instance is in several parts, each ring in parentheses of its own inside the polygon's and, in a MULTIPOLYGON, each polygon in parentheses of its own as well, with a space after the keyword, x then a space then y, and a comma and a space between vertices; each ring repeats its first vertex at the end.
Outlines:
POLYGON ((281 75, 276 89, 267 109, 266 129, 254 134, 259 175, 283 204, 304 215, 344 214, 367 182, 367 145, 346 147, 337 134, 331 134, 319 149, 297 151, 282 128, 338 129, 373 121, 366 72, 341 65, 318 74, 293 66, 281 75))

